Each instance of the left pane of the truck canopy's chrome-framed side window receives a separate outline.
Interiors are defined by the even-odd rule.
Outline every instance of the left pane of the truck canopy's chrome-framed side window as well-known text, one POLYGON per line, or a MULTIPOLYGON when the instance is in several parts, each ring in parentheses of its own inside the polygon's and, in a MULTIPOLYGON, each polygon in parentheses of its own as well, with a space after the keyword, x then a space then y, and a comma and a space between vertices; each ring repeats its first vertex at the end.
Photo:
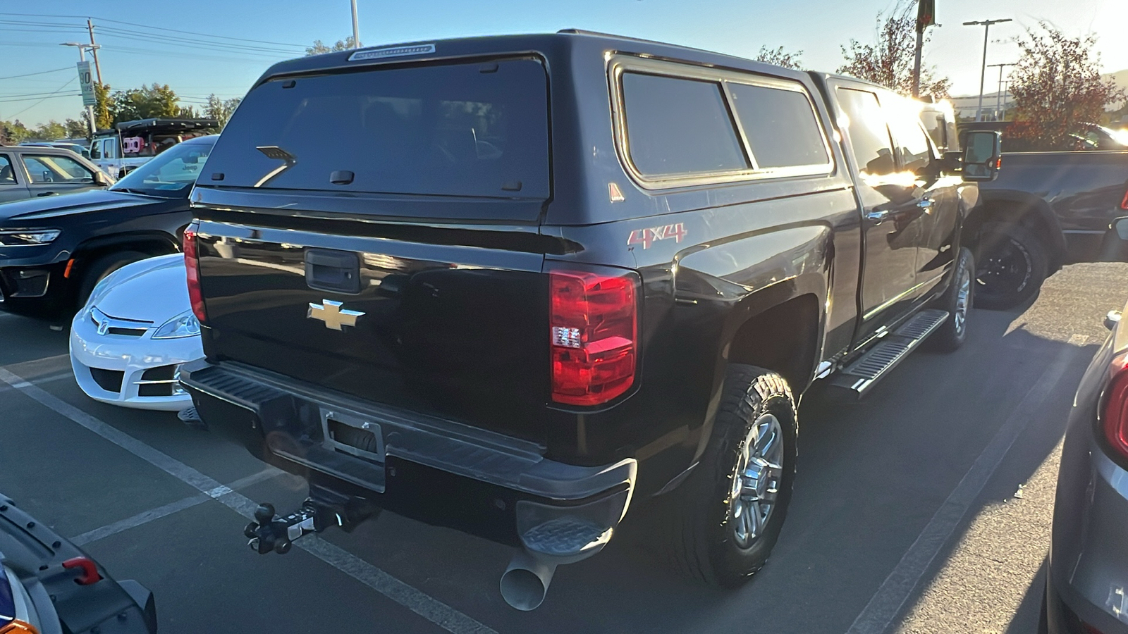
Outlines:
POLYGON ((715 81, 623 74, 631 161, 646 176, 748 169, 715 81))

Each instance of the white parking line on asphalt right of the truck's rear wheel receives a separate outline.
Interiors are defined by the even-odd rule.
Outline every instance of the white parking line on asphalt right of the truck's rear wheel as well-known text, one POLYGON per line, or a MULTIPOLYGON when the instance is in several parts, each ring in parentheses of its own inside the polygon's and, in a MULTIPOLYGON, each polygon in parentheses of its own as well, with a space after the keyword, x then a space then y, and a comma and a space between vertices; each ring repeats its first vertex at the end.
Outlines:
POLYGON ((933 561, 943 549, 952 532, 963 521, 968 509, 979 497, 979 493, 995 474, 995 469, 1003 463, 1003 458, 1006 457, 1022 431, 1026 429, 1030 420, 1034 419, 1041 411, 1051 388, 1061 379, 1069 362, 1077 353, 1077 347, 1074 346, 1084 345, 1087 340, 1089 337, 1084 335, 1069 337, 1070 346, 1063 349, 1054 362, 1046 368, 1042 376, 1030 387, 1030 390, 995 433, 995 438, 979 454, 963 479, 952 490, 948 500, 940 505, 932 520, 917 536, 916 541, 878 588, 862 613, 854 619, 854 624, 851 625, 846 634, 882 634, 889 629, 893 619, 905 607, 905 602, 913 596, 920 578, 932 566, 933 561))

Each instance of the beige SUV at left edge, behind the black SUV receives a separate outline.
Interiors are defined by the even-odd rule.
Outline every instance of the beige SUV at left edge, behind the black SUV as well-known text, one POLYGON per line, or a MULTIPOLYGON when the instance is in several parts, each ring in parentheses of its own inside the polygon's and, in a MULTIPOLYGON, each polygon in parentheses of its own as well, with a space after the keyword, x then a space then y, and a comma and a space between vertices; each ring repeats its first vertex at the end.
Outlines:
MULTIPOLYGON (((69 150, 39 146, 0 148, 0 203, 102 190, 113 183, 97 166, 69 150)), ((0 211, 0 217, 3 214, 0 211)))

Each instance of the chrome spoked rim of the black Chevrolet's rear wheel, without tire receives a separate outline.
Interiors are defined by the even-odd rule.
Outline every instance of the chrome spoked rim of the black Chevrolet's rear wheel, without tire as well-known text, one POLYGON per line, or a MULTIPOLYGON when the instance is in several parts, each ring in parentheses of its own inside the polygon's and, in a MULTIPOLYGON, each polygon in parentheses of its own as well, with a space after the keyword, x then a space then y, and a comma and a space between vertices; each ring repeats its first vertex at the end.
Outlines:
POLYGON ((733 537, 750 547, 764 532, 783 479, 783 426, 773 414, 752 423, 744 438, 729 496, 733 537))

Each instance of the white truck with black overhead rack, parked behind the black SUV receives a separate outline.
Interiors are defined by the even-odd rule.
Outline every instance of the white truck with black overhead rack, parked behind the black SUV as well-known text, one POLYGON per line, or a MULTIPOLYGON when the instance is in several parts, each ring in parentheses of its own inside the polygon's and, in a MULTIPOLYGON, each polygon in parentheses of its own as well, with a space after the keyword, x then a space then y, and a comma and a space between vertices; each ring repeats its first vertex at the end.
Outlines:
POLYGON ((142 118, 99 130, 90 141, 90 159, 122 178, 173 146, 217 130, 214 118, 142 118))

